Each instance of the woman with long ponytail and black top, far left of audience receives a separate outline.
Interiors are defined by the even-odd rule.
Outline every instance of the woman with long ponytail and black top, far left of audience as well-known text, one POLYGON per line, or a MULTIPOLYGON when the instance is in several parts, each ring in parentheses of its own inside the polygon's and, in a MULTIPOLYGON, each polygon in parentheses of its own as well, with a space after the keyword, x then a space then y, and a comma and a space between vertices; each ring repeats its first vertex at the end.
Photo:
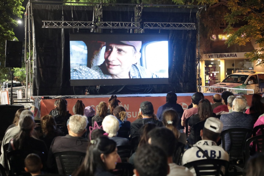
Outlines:
POLYGON ((42 140, 37 140, 32 137, 35 122, 30 110, 22 111, 18 121, 18 127, 20 128, 20 131, 15 138, 10 140, 8 151, 29 149, 41 151, 47 155, 46 144, 42 140))

